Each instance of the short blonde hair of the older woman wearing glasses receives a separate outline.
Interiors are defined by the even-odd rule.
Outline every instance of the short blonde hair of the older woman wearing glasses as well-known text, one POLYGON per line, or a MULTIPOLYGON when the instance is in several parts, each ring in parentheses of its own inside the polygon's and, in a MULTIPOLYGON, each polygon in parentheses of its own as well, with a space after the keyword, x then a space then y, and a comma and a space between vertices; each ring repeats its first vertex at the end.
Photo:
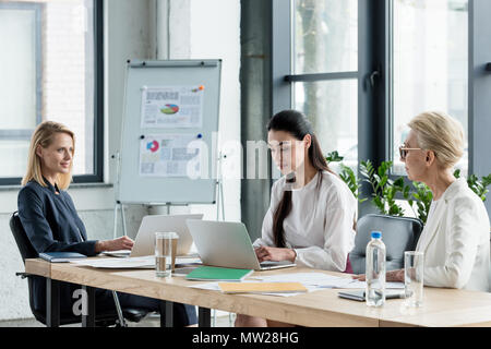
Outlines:
POLYGON ((464 155, 464 129, 444 112, 423 112, 409 122, 423 151, 433 151, 438 164, 447 169, 464 155))

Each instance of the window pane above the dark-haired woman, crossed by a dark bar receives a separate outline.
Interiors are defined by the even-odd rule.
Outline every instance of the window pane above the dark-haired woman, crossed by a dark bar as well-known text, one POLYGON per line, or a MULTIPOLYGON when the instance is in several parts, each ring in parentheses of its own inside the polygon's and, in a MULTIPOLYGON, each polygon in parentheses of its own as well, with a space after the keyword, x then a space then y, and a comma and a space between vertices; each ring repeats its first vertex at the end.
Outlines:
POLYGON ((358 164, 358 0, 294 0, 291 107, 313 124, 324 154, 358 164))

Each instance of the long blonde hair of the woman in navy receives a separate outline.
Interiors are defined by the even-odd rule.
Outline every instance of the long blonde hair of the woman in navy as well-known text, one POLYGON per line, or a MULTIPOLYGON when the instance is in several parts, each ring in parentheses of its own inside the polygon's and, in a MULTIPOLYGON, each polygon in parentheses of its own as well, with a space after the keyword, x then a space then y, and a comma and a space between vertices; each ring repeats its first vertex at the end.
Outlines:
MULTIPOLYGON (((27 172, 22 179, 22 185, 25 185, 29 181, 34 180, 43 186, 48 186, 48 184, 45 182, 43 178, 41 160, 39 156, 36 154, 36 148, 38 145, 40 145, 44 148, 50 146, 57 133, 67 133, 72 137, 73 154, 75 153, 75 134, 71 130, 69 130, 65 125, 58 122, 53 121, 41 122, 36 128, 33 136, 31 137, 29 156, 27 160, 27 172)), ((72 167, 73 163, 70 164, 70 171, 68 173, 58 174, 57 184, 59 189, 65 190, 67 188, 69 188, 72 181, 72 167)))

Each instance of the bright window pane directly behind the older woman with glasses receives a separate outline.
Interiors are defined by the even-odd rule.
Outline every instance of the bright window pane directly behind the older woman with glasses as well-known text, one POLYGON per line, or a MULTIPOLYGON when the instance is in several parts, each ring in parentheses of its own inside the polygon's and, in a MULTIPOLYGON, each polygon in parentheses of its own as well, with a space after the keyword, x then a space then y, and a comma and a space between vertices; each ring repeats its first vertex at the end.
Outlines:
MULTIPOLYGON (((415 116, 439 110, 468 134, 468 1, 393 0, 394 172, 404 174, 396 147, 415 116)), ((468 142, 466 142, 468 143, 468 142)), ((457 164, 467 174, 468 146, 457 164)))

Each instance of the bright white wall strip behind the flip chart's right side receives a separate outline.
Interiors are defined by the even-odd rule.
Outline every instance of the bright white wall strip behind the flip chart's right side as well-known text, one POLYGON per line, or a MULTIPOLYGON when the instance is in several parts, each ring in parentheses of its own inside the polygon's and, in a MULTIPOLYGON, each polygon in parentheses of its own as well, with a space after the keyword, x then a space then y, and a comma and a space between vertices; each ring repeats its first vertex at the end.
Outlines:
MULTIPOLYGON (((240 1, 191 0, 190 23, 190 57, 223 60, 218 148, 228 155, 223 160, 223 170, 227 172, 230 161, 237 158, 227 151, 226 144, 240 143, 240 1)), ((225 219, 240 221, 240 178, 225 179, 224 193, 225 219)), ((216 207, 194 209, 216 218, 216 207)))

